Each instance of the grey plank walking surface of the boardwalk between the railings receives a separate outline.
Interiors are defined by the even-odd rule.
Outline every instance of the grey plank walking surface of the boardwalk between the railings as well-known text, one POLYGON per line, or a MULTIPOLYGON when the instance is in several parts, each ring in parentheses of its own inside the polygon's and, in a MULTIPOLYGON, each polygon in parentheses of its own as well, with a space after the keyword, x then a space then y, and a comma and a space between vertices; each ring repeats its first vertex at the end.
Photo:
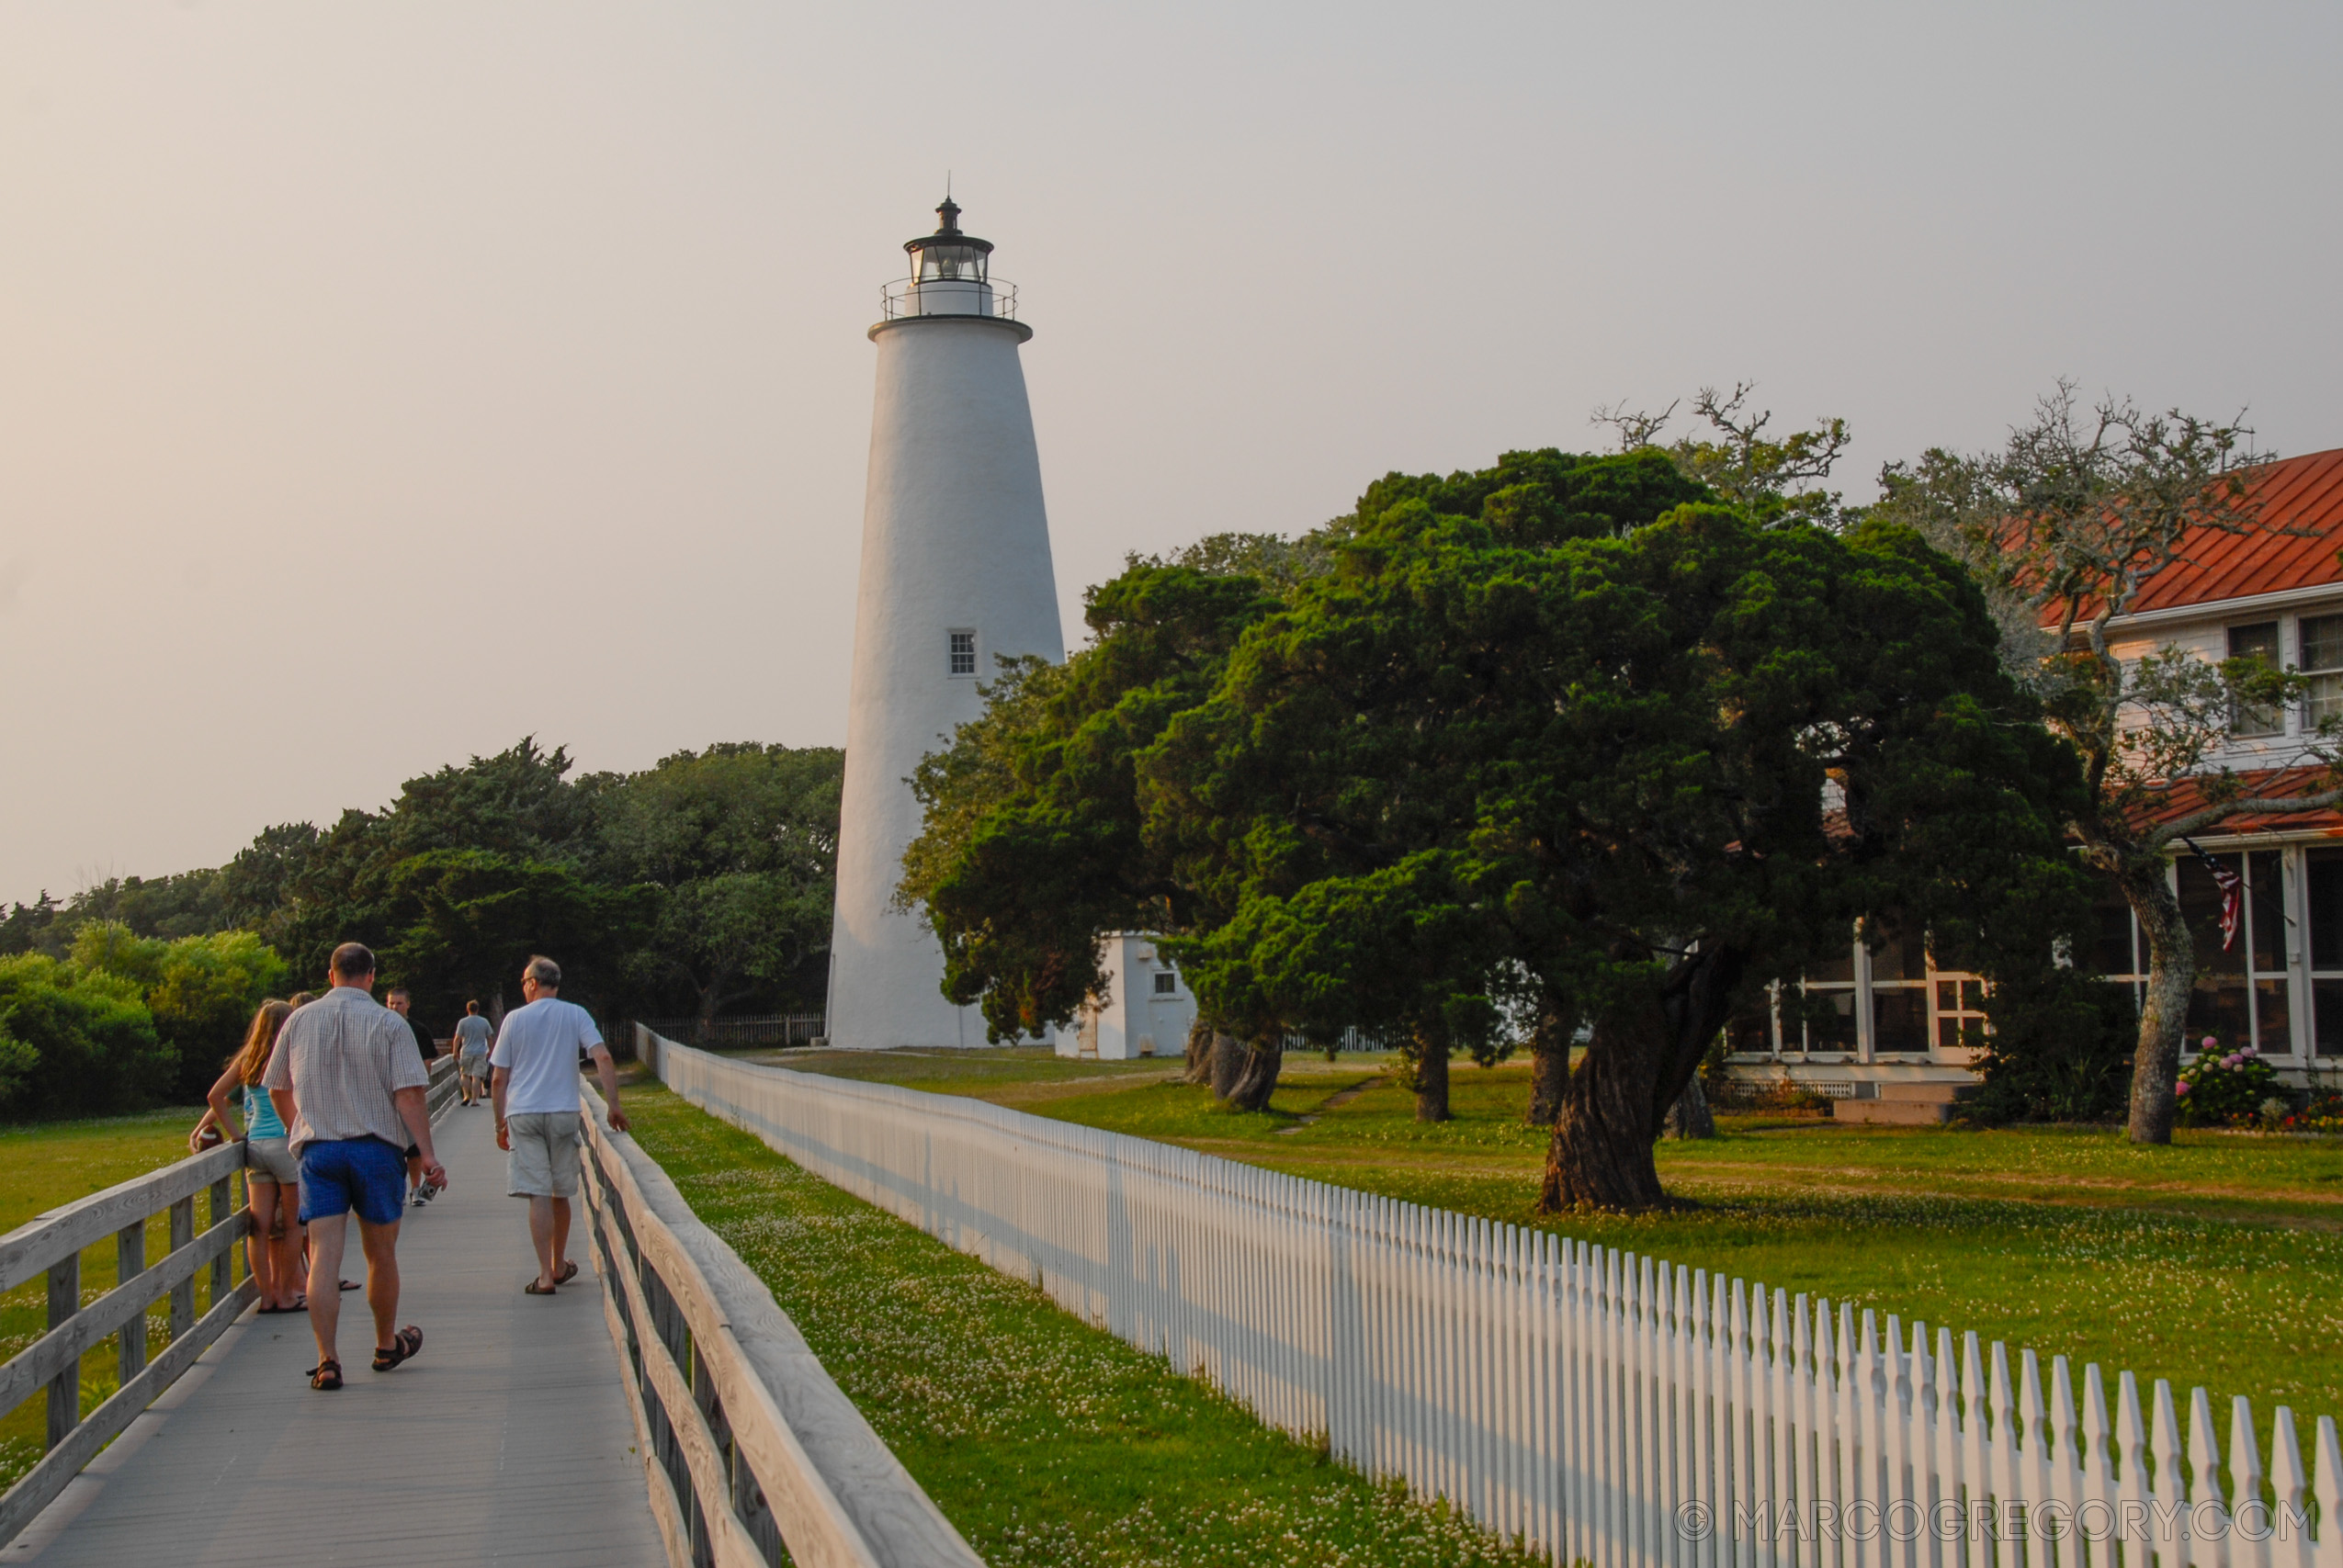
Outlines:
MULTIPOLYGON (((366 1298, 342 1296, 337 1395, 309 1390, 307 1317, 246 1313, 23 1535, 0 1566, 665 1563, 602 1317, 586 1205, 579 1280, 534 1275, 487 1109, 438 1125, 450 1188, 410 1209, 401 1322, 424 1352, 368 1371, 366 1298)), ((344 1273, 366 1261, 351 1228, 344 1273)))

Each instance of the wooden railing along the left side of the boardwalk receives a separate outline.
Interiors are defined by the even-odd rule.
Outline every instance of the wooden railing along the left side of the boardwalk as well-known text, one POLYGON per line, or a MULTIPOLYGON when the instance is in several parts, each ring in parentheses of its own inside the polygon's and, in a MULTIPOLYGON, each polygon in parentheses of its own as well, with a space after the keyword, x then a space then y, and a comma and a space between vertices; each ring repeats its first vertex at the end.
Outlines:
MULTIPOLYGON (((431 1064, 424 1102, 438 1116, 455 1099, 455 1062, 431 1064)), ((0 1495, 0 1547, 66 1488, 98 1448, 150 1406, 155 1397, 220 1338, 258 1298, 246 1277, 232 1284, 237 1242, 251 1230, 251 1207, 237 1202, 244 1144, 220 1144, 199 1155, 131 1177, 103 1193, 37 1214, 0 1235, 0 1294, 49 1275, 49 1331, 0 1364, 0 1416, 47 1392, 47 1453, 0 1495), (204 1230, 194 1228, 194 1195, 206 1193, 204 1230), (171 1252, 145 1259, 148 1221, 169 1214, 171 1252), (115 1289, 82 1305, 82 1249, 115 1238, 115 1289), (194 1315, 194 1277, 211 1273, 211 1310, 194 1315), (169 1343, 148 1359, 148 1308, 171 1298, 169 1343), (119 1348, 119 1388, 82 1416, 82 1357, 108 1336, 119 1348)))

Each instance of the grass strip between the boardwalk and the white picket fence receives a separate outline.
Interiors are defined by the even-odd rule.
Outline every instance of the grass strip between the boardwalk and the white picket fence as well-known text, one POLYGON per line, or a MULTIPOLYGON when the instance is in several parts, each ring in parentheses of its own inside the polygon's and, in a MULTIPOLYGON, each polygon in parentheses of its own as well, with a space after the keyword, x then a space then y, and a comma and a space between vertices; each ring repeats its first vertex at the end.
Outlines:
MULTIPOLYGON (((1015 1066, 996 1078, 1015 1083, 1015 1066)), ((1532 1561, 1270 1432, 654 1083, 628 1088, 626 1109, 642 1148, 989 1563, 1532 1561)))

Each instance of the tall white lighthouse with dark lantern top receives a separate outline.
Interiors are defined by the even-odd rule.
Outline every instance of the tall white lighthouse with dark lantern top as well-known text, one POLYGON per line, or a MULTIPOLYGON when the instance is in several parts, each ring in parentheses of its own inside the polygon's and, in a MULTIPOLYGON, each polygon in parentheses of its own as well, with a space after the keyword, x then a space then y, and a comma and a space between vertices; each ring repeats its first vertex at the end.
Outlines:
POLYGON ((1033 328, 991 277, 991 241, 961 232, 951 197, 935 213, 869 330, 879 398, 829 933, 829 1043, 848 1050, 984 1043, 984 1017, 944 1001, 935 933, 888 907, 921 827, 904 780, 977 717, 996 656, 1066 656, 1017 361, 1033 328))

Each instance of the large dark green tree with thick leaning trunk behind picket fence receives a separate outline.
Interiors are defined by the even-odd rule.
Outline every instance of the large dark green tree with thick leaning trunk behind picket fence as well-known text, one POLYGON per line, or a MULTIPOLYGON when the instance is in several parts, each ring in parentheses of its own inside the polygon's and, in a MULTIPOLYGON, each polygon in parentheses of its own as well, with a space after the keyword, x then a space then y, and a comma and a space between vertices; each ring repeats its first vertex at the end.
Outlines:
POLYGON ((1685 506, 1507 539, 1401 504, 1246 630, 1141 790, 1232 888, 1169 945, 1200 996, 1399 1017, 1427 1059, 1572 998, 1591 1038, 1542 1202, 1645 1209, 1708 1043, 1856 919, 1987 968, 2071 928, 2071 773, 1975 586, 1907 530, 1685 506))

